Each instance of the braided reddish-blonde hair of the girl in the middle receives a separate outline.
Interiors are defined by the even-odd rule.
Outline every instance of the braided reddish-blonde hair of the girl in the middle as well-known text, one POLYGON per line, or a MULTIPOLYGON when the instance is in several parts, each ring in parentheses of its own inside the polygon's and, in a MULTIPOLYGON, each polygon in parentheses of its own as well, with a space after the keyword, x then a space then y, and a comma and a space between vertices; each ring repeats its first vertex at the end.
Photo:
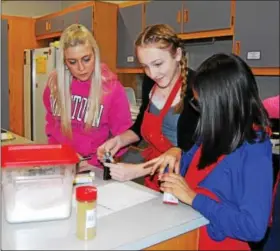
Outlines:
POLYGON ((171 55, 175 55, 178 48, 182 50, 180 61, 182 88, 180 93, 180 102, 175 106, 175 112, 180 113, 184 107, 184 98, 187 89, 187 58, 182 40, 176 35, 175 31, 166 24, 156 24, 147 26, 135 41, 137 47, 155 46, 159 49, 169 49, 171 55))

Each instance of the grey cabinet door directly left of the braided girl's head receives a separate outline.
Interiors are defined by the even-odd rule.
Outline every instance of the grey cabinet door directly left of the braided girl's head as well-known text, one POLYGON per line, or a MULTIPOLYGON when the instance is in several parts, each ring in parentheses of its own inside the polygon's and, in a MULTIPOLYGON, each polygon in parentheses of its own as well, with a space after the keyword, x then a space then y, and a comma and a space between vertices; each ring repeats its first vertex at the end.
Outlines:
POLYGON ((142 4, 120 8, 118 12, 118 67, 139 67, 134 42, 142 30, 142 4))

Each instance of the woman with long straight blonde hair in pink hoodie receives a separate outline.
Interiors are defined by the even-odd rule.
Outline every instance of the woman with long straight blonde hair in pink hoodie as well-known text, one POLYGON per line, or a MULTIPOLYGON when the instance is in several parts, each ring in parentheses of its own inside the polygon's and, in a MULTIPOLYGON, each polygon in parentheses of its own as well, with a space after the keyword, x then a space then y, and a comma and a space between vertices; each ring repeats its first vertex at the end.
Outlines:
POLYGON ((100 63, 98 45, 82 25, 63 31, 59 58, 43 94, 48 142, 69 144, 100 166, 97 147, 132 124, 125 90, 100 63))

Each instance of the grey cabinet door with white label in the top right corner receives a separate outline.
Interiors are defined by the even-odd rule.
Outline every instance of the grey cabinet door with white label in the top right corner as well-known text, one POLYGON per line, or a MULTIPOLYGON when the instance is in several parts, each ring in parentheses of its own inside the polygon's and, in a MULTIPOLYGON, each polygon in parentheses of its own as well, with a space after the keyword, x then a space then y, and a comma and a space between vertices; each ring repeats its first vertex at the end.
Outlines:
POLYGON ((235 40, 251 67, 279 67, 279 1, 236 1, 235 40))

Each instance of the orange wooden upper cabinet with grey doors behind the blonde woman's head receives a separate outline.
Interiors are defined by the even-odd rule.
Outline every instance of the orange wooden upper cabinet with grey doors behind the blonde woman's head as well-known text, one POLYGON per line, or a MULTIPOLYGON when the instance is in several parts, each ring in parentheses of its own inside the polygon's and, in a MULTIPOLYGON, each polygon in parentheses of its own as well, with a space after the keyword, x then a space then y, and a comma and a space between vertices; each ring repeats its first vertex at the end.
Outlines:
MULTIPOLYGON (((82 2, 63 11, 36 18, 36 39, 59 39, 61 32, 71 24, 82 24, 93 33, 100 49, 101 61, 116 72, 117 15, 117 4, 102 1, 82 2)), ((141 13, 135 18, 141 23, 141 13)))

